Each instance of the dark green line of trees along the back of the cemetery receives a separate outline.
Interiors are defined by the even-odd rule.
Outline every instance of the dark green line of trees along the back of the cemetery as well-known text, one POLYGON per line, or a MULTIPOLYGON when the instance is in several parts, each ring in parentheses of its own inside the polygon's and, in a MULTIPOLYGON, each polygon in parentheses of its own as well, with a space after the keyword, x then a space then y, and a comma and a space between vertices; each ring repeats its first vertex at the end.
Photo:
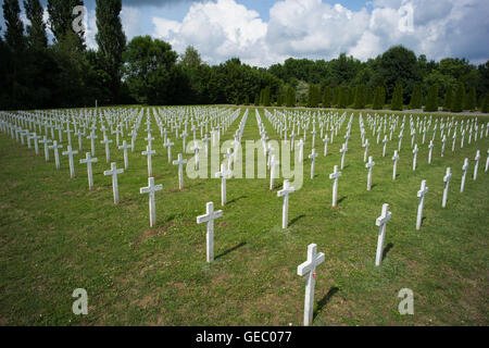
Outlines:
POLYGON ((3 1, 0 109, 98 104, 255 104, 310 108, 422 109, 487 112, 489 61, 428 61, 402 47, 361 62, 341 53, 330 61, 288 59, 267 69, 238 58, 209 65, 193 47, 177 54, 150 36, 126 40, 121 0, 96 0, 98 50, 74 32, 80 0, 3 1), (47 29, 53 35, 48 40, 47 29))

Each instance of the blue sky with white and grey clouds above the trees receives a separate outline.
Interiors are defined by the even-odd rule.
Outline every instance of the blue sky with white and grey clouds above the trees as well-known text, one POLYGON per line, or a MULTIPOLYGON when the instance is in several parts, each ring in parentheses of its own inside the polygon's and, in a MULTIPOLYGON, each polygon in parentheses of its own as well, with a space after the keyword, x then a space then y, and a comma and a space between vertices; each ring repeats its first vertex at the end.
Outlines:
MULTIPOLYGON (((86 41, 96 49, 95 0, 85 4, 86 41)), ((239 57, 269 66, 341 52, 365 61, 393 45, 435 60, 489 59, 487 0, 123 0, 122 22, 128 39, 151 35, 179 53, 191 45, 211 64, 239 57)))

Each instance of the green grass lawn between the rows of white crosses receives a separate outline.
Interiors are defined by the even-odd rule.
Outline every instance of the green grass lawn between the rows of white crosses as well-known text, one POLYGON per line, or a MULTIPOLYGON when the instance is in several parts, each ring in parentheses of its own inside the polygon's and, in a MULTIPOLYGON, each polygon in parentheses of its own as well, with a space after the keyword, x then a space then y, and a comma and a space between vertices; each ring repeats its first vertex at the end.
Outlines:
MULTIPOLYGON (((260 110, 267 136, 278 139, 260 110)), ((254 112, 250 108, 243 140, 260 138, 254 112)), ((222 140, 233 139, 241 117, 242 113, 222 140)), ((185 177, 185 188, 178 190, 177 166, 167 163, 154 119, 153 175, 163 190, 156 192, 153 228, 148 195, 139 194, 148 185, 147 158, 140 154, 146 149, 145 121, 129 170, 118 177, 118 206, 113 203, 111 178, 103 176, 110 164, 100 142, 95 189, 89 191, 86 165, 79 164, 89 140, 84 140, 84 151, 75 160, 76 178, 71 179, 66 157, 57 171, 52 152, 46 163, 42 148, 36 157, 34 149, 0 134, 0 325, 301 325, 305 278, 297 275, 297 266, 305 261, 312 243, 326 256, 316 270, 314 325, 488 325, 489 176, 484 166, 489 138, 467 145, 466 137, 465 147, 460 149, 457 141, 453 153, 450 137, 441 158, 438 130, 429 165, 429 132, 426 144, 418 144, 413 172, 408 114, 399 177, 392 181, 399 127, 383 158, 383 144, 376 144, 364 112, 368 152, 376 162, 374 187, 367 191, 355 112, 339 179, 339 207, 334 209, 328 175, 340 164, 348 119, 326 158, 316 136, 319 157, 313 181, 308 136, 304 184, 290 196, 287 229, 280 227, 283 199, 277 197, 283 179, 276 181, 273 191, 268 179, 229 179, 224 208, 220 179, 185 177), (477 149, 481 160, 474 182, 477 149), (465 158, 471 166, 465 192, 460 194, 465 158), (447 166, 453 177, 448 207, 442 209, 447 166), (422 179, 429 192, 418 232, 416 192, 422 179), (205 262, 205 225, 196 223, 208 201, 224 210, 215 223, 212 264, 205 262), (375 220, 383 203, 390 204, 392 220, 385 259, 376 268, 375 220), (88 315, 72 313, 75 288, 88 291, 88 315), (402 288, 414 291, 414 315, 398 312, 402 288)), ((174 134, 171 138, 176 159, 181 139, 174 134)), ((115 138, 111 161, 123 167, 115 138)))

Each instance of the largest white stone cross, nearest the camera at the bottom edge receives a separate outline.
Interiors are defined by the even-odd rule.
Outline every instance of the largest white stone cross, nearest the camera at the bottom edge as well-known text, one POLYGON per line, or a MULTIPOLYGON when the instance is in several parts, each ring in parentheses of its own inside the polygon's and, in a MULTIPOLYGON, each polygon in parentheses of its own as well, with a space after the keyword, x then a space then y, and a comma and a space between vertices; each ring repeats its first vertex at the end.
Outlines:
POLYGON ((308 261, 297 268, 297 274, 305 277, 305 300, 304 300, 304 326, 313 322, 314 310, 314 285, 316 281, 316 266, 324 262, 324 253, 317 253, 317 246, 308 246, 308 261))

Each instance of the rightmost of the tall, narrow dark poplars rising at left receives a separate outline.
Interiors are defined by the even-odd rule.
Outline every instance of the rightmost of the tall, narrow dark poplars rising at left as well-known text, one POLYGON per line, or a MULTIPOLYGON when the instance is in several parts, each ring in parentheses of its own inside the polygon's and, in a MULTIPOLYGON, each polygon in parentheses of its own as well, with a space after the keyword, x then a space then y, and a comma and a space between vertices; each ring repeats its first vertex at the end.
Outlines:
POLYGON ((105 72, 111 77, 112 101, 117 102, 121 87, 121 67, 123 65, 122 55, 126 47, 126 36, 120 17, 122 0, 96 0, 96 3, 98 52, 105 72))

